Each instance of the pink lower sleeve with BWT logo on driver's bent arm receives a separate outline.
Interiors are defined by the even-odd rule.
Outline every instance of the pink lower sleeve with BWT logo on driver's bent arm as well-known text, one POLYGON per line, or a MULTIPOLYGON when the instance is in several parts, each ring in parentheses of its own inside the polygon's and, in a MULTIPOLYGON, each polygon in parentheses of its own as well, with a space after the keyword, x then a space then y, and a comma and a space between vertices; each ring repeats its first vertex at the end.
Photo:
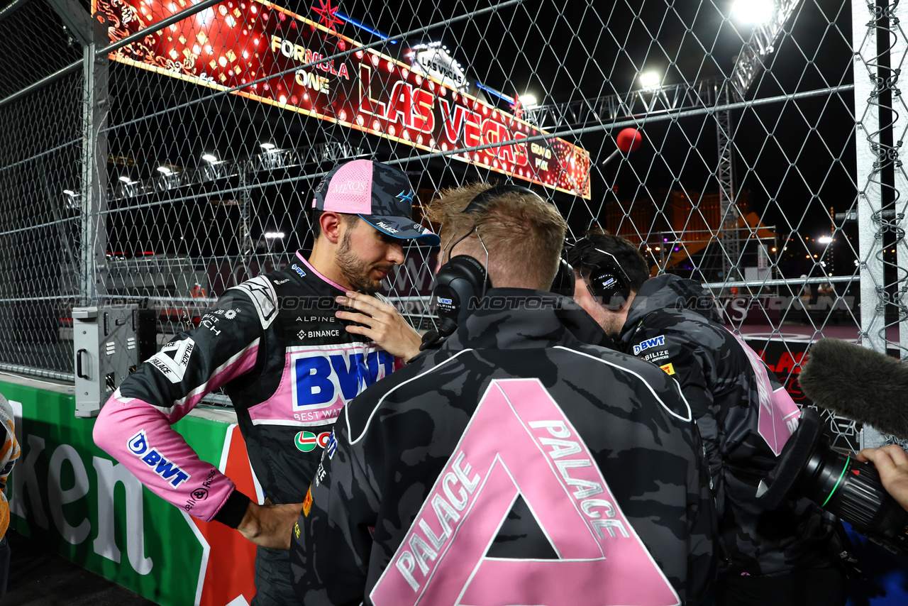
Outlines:
POLYGON ((94 423, 94 443, 122 462, 149 490, 196 518, 210 522, 235 490, 232 480, 199 455, 171 427, 171 418, 148 402, 124 399, 120 390, 94 423), (207 491, 202 499, 192 493, 207 491))

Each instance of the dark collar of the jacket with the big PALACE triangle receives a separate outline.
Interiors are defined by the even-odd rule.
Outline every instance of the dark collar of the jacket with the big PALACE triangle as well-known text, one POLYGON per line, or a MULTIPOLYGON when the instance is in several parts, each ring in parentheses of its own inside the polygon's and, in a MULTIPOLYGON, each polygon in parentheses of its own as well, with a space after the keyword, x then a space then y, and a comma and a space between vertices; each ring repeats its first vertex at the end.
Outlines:
POLYGON ((573 299, 526 288, 492 288, 441 349, 528 349, 577 342, 617 349, 573 299))

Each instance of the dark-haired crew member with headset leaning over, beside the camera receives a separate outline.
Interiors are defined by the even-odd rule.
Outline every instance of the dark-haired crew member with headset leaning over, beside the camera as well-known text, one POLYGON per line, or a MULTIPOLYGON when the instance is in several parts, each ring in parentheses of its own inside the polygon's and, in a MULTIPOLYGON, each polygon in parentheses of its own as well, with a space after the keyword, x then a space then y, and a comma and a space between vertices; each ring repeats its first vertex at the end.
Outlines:
POLYGON ((775 512, 757 502, 800 413, 759 356, 722 325, 712 295, 674 275, 649 278, 637 247, 611 234, 589 233, 568 261, 577 303, 622 351, 676 379, 694 410, 719 514, 719 606, 844 604, 833 522, 806 499, 775 512))

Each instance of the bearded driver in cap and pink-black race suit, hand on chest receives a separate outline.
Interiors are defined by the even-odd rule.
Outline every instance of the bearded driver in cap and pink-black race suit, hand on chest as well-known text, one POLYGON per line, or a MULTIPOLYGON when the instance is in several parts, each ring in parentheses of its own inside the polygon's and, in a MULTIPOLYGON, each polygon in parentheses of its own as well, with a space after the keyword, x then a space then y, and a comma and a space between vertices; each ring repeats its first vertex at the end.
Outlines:
MULTIPOLYGON (((316 188, 309 259, 227 290, 194 330, 142 363, 108 400, 94 441, 152 492, 258 544, 253 606, 298 603, 289 534, 321 457, 311 448, 341 408, 419 353, 419 333, 376 293, 403 263, 402 243, 438 245, 410 218, 413 190, 387 164, 354 160, 316 188), (341 306, 354 311, 343 311, 341 306), (264 504, 196 452, 171 425, 223 388, 236 411, 264 504), (203 499, 193 496, 204 485, 203 499)), ((322 445, 323 447, 323 445, 322 445)))

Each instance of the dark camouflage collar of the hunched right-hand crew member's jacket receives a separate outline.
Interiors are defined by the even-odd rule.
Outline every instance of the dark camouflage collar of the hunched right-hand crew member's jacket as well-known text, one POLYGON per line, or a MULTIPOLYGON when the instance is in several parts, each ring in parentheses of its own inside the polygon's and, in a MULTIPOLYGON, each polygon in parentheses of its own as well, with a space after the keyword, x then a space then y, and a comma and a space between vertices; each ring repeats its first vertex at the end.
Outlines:
POLYGON ((722 318, 716 309, 716 300, 702 284, 664 273, 646 280, 634 296, 633 301, 630 302, 627 320, 621 329, 619 342, 630 343, 634 333, 637 332, 637 324, 643 320, 646 314, 666 309, 691 310, 709 320, 722 323, 722 318))

